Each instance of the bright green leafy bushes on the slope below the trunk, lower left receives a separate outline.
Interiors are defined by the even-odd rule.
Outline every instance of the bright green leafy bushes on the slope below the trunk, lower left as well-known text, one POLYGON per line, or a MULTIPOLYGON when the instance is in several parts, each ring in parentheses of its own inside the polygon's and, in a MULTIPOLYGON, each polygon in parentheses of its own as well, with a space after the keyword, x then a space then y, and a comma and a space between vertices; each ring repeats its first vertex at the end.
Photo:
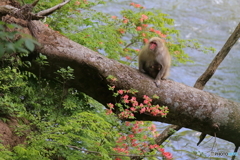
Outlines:
MULTIPOLYGON (((66 70, 61 71, 59 74, 64 77, 66 70)), ((29 125, 19 124, 15 133, 20 136, 23 131, 32 131, 28 135, 28 145, 18 145, 12 152, 1 152, 2 158, 97 159, 94 154, 81 152, 83 149, 98 151, 99 159, 110 159, 108 152, 117 134, 113 127, 118 124, 116 118, 105 117, 101 105, 74 89, 62 95, 66 89, 62 88, 62 83, 28 77, 13 67, 2 68, 0 75, 1 120, 9 116, 21 117, 29 125), (62 95, 60 100, 59 95, 62 95)), ((71 73, 68 75, 71 77, 71 73)), ((69 76, 64 77, 64 81, 69 76)))

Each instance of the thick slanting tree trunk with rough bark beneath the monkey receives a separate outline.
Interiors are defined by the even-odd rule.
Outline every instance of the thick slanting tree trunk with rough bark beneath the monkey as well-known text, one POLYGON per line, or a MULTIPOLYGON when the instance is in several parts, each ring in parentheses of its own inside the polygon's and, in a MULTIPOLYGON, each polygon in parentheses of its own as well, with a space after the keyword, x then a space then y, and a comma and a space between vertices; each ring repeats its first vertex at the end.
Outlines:
MULTIPOLYGON (((171 80, 161 81, 161 86, 157 88, 153 79, 138 70, 81 46, 47 28, 40 21, 32 21, 29 26, 41 44, 29 55, 33 63, 31 70, 37 75, 39 67, 34 65, 34 59, 38 53, 42 53, 48 57, 50 64, 41 68, 43 77, 54 79, 56 70, 70 66, 74 69, 75 79, 69 81, 68 86, 86 93, 103 105, 115 103, 108 85, 115 85, 116 89, 134 88, 139 91, 138 99, 143 95, 157 94, 160 98, 153 103, 169 107, 167 118, 135 114, 136 120, 175 124, 209 135, 216 133, 219 138, 240 144, 239 103, 171 80), (108 75, 115 76, 118 81, 107 80, 108 75)), ((25 26, 23 29, 28 30, 25 26)))

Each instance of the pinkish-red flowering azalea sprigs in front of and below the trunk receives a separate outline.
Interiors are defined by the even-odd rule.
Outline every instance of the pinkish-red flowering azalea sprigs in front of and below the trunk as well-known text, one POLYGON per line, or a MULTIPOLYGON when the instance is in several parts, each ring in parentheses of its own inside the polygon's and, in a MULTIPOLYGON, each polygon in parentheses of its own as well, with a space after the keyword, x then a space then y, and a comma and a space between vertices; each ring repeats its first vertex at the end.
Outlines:
MULTIPOLYGON (((107 79, 117 81, 117 79, 109 75, 107 79)), ((168 107, 153 105, 152 98, 144 95, 142 102, 135 97, 138 92, 135 89, 130 90, 115 90, 115 86, 109 86, 109 90, 113 91, 113 96, 116 97, 116 103, 107 104, 107 114, 115 112, 120 119, 131 120, 135 119, 134 114, 151 114, 153 116, 166 117, 168 107), (119 99, 119 100, 118 100, 119 99)), ((153 99, 158 99, 157 95, 153 95, 153 99)), ((118 144, 114 148, 118 153, 126 155, 138 155, 143 157, 165 157, 172 158, 172 154, 165 152, 165 150, 154 142, 154 138, 159 134, 156 132, 155 124, 151 122, 135 121, 134 123, 125 122, 128 131, 120 133, 121 137, 118 139, 118 144), (149 132, 150 131, 150 132, 149 132)))

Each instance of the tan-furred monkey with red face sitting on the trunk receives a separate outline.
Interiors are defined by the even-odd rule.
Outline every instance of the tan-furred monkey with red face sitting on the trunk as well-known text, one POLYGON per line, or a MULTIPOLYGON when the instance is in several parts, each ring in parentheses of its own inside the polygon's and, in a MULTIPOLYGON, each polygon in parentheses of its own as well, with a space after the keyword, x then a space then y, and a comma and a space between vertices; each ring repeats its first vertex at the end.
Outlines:
POLYGON ((153 37, 142 48, 138 57, 139 71, 155 79, 157 87, 160 80, 166 79, 171 66, 171 56, 165 42, 158 37, 153 37))

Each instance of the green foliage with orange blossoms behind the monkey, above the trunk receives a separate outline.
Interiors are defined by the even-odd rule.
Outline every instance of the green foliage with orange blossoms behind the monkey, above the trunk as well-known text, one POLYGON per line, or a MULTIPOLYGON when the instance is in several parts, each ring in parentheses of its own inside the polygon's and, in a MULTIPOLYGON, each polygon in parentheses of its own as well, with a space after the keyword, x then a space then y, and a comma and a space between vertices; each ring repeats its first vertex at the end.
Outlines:
POLYGON ((196 40, 180 39, 174 20, 159 10, 149 11, 139 4, 129 3, 129 7, 117 17, 94 10, 99 4, 104 1, 71 1, 63 10, 48 17, 46 23, 70 39, 128 65, 136 64, 139 49, 154 36, 166 40, 174 64, 191 62, 184 52, 186 47, 213 51, 213 48, 202 47, 196 40))

